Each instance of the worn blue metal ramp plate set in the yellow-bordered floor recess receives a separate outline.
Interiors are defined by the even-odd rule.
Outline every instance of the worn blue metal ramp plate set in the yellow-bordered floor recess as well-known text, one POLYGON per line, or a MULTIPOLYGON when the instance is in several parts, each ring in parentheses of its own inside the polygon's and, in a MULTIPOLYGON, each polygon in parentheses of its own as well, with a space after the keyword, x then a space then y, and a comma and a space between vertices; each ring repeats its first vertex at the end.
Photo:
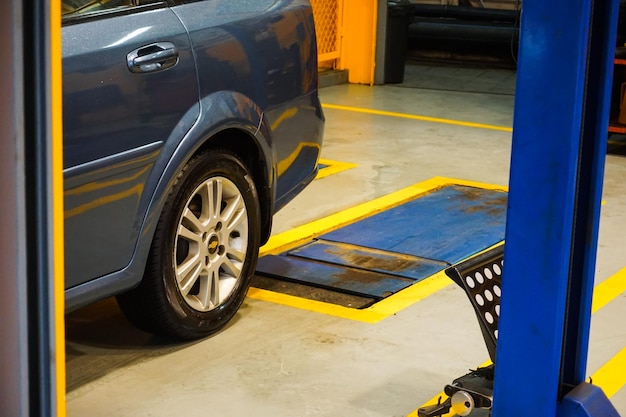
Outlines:
POLYGON ((264 256, 257 275, 376 302, 502 241, 506 202, 503 191, 442 187, 264 256))

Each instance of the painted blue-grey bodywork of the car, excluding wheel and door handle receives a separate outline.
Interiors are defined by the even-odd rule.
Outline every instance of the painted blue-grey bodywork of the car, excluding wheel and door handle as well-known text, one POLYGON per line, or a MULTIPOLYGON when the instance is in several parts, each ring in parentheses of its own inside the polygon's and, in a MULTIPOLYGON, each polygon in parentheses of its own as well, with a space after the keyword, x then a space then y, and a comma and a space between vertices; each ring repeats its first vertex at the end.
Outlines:
POLYGON ((115 22, 117 33, 99 39, 95 33, 107 31, 109 17, 85 23, 92 32, 87 42, 81 41, 82 23, 63 29, 64 111, 70 112, 64 138, 68 311, 139 284, 167 193, 201 148, 225 147, 244 160, 254 158, 264 240, 271 216, 317 170, 324 117, 307 0, 200 0, 139 9, 114 17, 121 22, 115 22), (163 28, 177 34, 165 36, 158 32, 163 28), (117 48, 125 42, 130 44, 117 48), (174 43, 177 65, 133 74, 120 64, 120 57, 152 42, 174 43), (175 71, 184 74, 167 80, 175 71), (120 81, 126 79, 139 85, 120 81), (83 84, 77 87, 75 80, 83 84), (124 95, 111 85, 132 95, 125 97, 126 111, 115 107, 124 95), (101 94, 98 102, 89 101, 90 88, 101 94), (111 109, 110 126, 106 110, 96 117, 98 103, 111 109), (89 117, 73 114, 82 109, 89 117))

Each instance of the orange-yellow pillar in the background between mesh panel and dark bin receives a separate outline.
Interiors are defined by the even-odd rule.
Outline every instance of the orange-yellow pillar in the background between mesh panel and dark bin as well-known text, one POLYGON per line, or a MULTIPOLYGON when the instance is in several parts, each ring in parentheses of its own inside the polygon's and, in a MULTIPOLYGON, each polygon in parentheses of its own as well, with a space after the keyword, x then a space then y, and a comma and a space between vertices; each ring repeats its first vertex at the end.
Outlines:
POLYGON ((337 69, 348 70, 350 83, 374 84, 377 10, 377 0, 343 0, 337 69))

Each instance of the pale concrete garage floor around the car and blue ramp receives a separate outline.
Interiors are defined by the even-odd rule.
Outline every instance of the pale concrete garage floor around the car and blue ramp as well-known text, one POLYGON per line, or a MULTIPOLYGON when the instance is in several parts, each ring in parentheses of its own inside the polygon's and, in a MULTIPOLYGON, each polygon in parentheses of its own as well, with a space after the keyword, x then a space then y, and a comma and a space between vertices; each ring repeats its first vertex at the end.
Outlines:
MULTIPOLYGON (((436 176, 507 186, 510 132, 412 117, 510 127, 513 89, 507 70, 420 66, 407 66, 403 84, 323 89, 322 157, 357 166, 315 180, 276 216, 274 234, 436 176)), ((626 267, 626 143, 612 139, 610 148, 597 284, 626 267)), ((593 316, 590 375, 626 346, 621 288, 593 316)), ((135 330, 105 300, 67 317, 67 409, 72 417, 413 416, 487 359, 455 285, 375 324, 247 298, 224 331, 180 344, 135 330)), ((626 381, 621 361, 608 378, 613 391, 626 381)), ((626 388, 612 401, 626 415, 626 388)))

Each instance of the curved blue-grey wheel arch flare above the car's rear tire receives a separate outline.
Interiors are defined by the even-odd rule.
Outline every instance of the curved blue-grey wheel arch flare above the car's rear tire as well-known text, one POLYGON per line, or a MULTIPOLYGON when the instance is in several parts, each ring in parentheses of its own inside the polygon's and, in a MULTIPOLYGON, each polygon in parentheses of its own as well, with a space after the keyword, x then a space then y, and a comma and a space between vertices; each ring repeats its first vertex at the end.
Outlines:
MULTIPOLYGON (((185 164, 207 149, 223 149, 238 156, 251 170, 261 206, 261 243, 270 235, 276 192, 276 154, 271 128, 261 108, 249 97, 221 91, 200 101, 199 116, 182 139, 168 139, 160 157, 160 173, 153 177, 142 234, 136 255, 150 245, 165 197, 185 164)), ((142 262, 140 262, 142 263, 142 262)))

